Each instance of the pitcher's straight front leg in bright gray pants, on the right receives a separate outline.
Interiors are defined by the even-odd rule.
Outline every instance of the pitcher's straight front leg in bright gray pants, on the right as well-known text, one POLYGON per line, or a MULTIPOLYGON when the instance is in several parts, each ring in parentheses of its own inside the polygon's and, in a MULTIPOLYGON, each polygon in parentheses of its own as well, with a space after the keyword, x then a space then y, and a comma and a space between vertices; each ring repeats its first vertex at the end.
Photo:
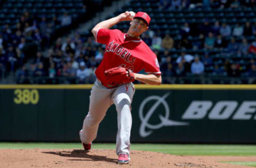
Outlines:
POLYGON ((113 94, 117 111, 116 154, 130 156, 130 135, 132 128, 131 102, 134 94, 132 83, 119 86, 113 94))

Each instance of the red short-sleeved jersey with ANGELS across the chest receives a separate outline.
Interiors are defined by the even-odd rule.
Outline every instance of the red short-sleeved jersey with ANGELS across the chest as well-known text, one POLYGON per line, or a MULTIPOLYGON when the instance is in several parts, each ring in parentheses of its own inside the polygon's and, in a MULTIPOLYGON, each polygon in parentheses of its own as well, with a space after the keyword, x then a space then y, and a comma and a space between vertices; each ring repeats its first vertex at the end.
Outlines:
POLYGON ((107 81, 104 71, 122 66, 135 73, 145 69, 146 73, 161 74, 157 57, 147 44, 141 40, 125 40, 126 33, 114 29, 98 29, 96 42, 106 44, 103 60, 95 74, 104 85, 107 81))

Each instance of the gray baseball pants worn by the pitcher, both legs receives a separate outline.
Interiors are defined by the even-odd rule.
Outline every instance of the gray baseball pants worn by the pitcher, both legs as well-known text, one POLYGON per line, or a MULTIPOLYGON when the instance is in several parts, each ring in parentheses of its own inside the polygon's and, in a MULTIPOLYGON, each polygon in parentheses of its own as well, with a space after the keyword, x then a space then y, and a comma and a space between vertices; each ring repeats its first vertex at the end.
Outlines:
POLYGON ((108 108, 114 103, 117 111, 116 154, 130 156, 130 135, 132 128, 131 103, 134 94, 133 83, 108 89, 97 79, 91 90, 89 112, 79 132, 83 143, 89 144, 97 137, 98 127, 108 108))

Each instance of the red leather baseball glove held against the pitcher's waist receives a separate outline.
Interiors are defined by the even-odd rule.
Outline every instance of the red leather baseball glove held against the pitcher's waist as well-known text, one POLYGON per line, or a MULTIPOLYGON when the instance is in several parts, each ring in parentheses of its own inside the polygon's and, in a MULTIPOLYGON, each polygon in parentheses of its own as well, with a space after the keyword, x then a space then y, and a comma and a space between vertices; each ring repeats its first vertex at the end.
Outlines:
POLYGON ((105 71, 105 75, 107 77, 107 85, 109 87, 117 87, 134 81, 134 73, 123 67, 108 69, 105 71))

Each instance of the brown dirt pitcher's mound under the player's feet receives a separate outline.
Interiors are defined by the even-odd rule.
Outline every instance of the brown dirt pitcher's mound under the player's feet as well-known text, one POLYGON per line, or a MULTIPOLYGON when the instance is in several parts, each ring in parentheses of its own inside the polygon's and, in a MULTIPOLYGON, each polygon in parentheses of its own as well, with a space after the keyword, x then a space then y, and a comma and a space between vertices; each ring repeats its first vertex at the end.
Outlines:
POLYGON ((110 149, 0 149, 0 167, 249 167, 138 150, 132 150, 129 164, 116 162, 115 150, 110 149))

